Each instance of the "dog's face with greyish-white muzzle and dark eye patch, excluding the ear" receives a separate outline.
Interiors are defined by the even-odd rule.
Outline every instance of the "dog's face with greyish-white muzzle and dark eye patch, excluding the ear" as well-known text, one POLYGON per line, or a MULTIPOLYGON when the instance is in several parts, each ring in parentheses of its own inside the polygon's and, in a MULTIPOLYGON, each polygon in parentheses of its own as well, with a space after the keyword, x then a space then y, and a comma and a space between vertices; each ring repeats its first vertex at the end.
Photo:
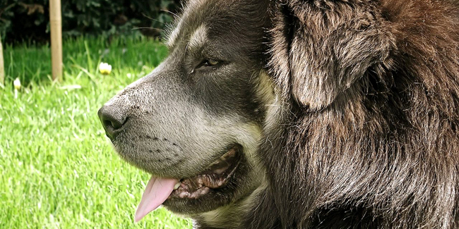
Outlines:
MULTIPOLYGON (((273 99, 264 12, 259 1, 189 1, 165 61, 99 111, 119 155, 153 175, 148 188, 170 193, 171 211, 211 211, 262 182, 254 152, 273 99)), ((144 205, 159 198, 147 192, 144 205)))

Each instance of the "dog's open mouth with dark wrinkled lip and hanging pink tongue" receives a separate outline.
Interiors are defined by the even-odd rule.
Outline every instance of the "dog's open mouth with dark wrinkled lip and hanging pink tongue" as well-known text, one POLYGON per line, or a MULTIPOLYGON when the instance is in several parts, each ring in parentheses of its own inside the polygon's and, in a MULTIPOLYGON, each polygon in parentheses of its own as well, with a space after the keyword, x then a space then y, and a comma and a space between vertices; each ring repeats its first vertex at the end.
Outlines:
POLYGON ((239 166, 241 148, 239 145, 232 147, 202 173, 190 178, 177 180, 152 176, 138 204, 135 221, 157 209, 166 199, 198 199, 209 194, 210 190, 225 187, 239 166))

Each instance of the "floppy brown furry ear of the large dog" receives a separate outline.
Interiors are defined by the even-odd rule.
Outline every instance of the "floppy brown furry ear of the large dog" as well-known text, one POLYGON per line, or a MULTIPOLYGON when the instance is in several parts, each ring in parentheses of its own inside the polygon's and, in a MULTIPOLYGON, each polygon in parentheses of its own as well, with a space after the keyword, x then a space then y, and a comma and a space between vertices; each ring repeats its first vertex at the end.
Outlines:
POLYGON ((394 39, 374 1, 365 2, 275 2, 270 68, 285 96, 323 109, 372 66, 388 62, 394 39))

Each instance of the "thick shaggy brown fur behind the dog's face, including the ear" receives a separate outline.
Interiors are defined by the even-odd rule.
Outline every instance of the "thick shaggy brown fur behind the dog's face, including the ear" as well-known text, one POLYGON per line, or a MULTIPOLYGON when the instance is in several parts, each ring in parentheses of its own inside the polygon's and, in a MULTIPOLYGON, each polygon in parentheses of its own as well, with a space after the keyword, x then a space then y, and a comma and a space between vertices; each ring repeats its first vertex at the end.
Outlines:
POLYGON ((247 228, 459 228, 458 5, 273 3, 285 101, 247 228))

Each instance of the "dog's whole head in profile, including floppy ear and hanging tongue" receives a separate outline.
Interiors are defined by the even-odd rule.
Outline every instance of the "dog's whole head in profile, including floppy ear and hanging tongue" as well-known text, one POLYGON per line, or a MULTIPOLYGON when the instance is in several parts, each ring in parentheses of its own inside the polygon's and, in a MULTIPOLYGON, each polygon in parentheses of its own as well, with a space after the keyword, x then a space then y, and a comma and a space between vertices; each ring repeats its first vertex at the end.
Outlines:
POLYGON ((269 144, 270 104, 317 112, 390 66, 381 20, 326 2, 186 3, 165 61, 99 111, 121 157, 153 175, 137 219, 163 202, 194 215, 246 197, 264 180, 254 153, 269 144))

